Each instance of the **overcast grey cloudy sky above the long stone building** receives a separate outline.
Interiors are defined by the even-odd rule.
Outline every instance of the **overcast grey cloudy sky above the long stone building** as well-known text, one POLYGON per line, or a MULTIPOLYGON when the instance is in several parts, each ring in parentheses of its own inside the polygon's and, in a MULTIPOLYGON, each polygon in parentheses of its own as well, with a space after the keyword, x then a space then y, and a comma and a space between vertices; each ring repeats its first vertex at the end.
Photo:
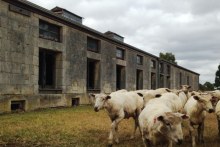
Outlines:
POLYGON ((220 0, 29 0, 82 16, 83 24, 115 32, 125 43, 159 56, 172 52, 178 65, 213 83, 220 64, 220 0))

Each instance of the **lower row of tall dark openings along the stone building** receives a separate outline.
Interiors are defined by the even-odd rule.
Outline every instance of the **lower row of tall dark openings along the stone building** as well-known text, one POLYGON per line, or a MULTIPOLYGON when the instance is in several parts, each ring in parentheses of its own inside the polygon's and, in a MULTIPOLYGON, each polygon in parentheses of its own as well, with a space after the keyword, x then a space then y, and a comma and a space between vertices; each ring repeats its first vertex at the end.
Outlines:
MULTIPOLYGON (((58 87, 56 83, 61 81, 61 78, 57 78, 57 70, 62 67, 58 67, 57 62, 60 59, 61 53, 40 49, 39 52, 39 88, 40 89, 55 89, 58 87)), ((61 59, 60 59, 61 60, 61 59)), ((87 60, 87 88, 88 90, 100 90, 100 61, 88 59, 87 60)), ((116 89, 125 88, 125 67, 116 65, 116 89)), ((182 83, 180 74, 180 83, 182 83)), ((166 77, 166 86, 170 87, 170 76, 166 77)), ((189 77, 187 77, 187 83, 189 83, 189 77)), ((164 76, 159 76, 159 87, 164 87, 164 76)), ((151 73, 151 88, 156 89, 156 74, 151 73)), ((143 89, 143 71, 137 69, 136 71, 136 89, 143 89)))

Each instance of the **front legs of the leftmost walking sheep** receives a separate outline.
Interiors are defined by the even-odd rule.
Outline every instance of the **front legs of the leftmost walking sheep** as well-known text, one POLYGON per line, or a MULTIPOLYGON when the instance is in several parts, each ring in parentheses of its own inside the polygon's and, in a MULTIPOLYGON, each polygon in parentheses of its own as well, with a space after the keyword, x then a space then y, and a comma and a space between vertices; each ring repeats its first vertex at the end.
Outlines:
POLYGON ((124 113, 121 114, 121 116, 117 117, 115 120, 113 120, 112 124, 111 124, 111 130, 109 133, 109 138, 108 138, 108 144, 109 146, 112 146, 113 144, 113 139, 115 138, 115 142, 119 143, 118 140, 118 134, 117 134, 117 128, 118 128, 118 124, 119 122, 124 118, 124 113))

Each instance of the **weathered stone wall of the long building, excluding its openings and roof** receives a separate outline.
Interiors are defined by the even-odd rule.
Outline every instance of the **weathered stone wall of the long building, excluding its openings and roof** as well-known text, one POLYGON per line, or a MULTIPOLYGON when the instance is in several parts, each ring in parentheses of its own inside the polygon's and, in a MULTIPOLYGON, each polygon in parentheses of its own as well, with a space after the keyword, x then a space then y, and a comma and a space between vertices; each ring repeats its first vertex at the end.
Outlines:
MULTIPOLYGON (((9 4, 0 0, 0 113, 10 112, 11 102, 17 100, 25 101, 25 110, 71 106, 73 98, 79 98, 80 104, 89 104, 86 87, 88 58, 100 61, 99 92, 116 90, 116 65, 125 66, 127 90, 136 90, 137 69, 143 70, 144 89, 151 88, 151 72, 157 74, 158 87, 158 58, 97 36, 33 12, 29 17, 9 11, 9 4), (39 19, 61 27, 61 42, 39 38, 39 19), (87 36, 100 41, 99 53, 87 51, 87 36), (125 49, 125 60, 116 59, 116 47, 125 49), (39 91, 40 49, 57 52, 55 88, 61 89, 61 93, 43 94, 39 91), (137 54, 143 56, 143 65, 136 63, 137 54), (152 59, 157 62, 155 70, 150 67, 152 59)), ((190 85, 194 90, 198 89, 198 75, 170 66, 171 88, 179 88, 181 72, 182 84, 186 84, 189 76, 190 85)), ((166 78, 164 84, 167 84, 166 78)))

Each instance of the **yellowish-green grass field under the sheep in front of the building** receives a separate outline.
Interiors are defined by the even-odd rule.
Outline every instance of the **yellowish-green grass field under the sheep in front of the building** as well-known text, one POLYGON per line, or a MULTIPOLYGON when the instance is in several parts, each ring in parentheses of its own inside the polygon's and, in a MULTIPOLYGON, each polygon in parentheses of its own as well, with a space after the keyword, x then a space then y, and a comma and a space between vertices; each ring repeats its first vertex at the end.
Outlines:
MULTIPOLYGON (((103 110, 98 113, 91 106, 46 109, 34 112, 0 115, 0 146, 53 146, 53 147, 105 147, 110 129, 110 119, 103 110)), ((133 120, 123 120, 119 125, 118 147, 141 147, 139 131, 130 140, 133 120)), ((191 146, 188 131, 183 145, 191 146)), ((219 147, 217 121, 208 114, 205 121, 205 143, 199 147, 219 147)))

